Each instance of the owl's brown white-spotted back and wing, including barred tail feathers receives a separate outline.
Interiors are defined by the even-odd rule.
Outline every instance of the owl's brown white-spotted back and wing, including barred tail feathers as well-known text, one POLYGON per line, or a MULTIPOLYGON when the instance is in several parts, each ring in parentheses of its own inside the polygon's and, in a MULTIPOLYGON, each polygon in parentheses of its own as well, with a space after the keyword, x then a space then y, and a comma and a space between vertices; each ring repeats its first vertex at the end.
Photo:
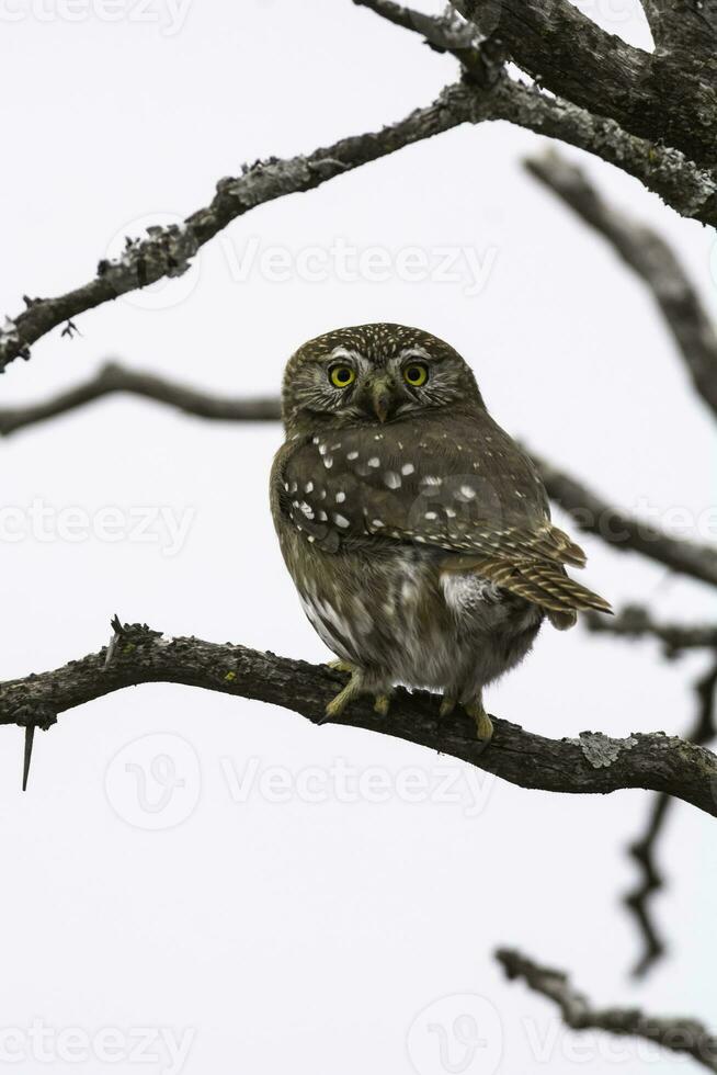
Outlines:
MULTIPOLYGON (((567 614, 610 606, 568 577, 585 555, 554 527, 531 460, 488 415, 334 430, 288 445, 282 510, 327 552, 401 542, 436 554, 444 570, 478 572, 567 614)), ((559 619, 559 616, 558 616, 559 619)))

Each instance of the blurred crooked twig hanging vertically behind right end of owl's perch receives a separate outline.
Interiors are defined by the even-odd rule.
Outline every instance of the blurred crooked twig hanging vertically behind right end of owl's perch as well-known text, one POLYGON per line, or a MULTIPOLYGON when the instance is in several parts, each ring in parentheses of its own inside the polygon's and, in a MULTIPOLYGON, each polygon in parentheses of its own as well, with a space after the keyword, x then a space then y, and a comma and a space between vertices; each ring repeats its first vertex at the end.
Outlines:
MULTIPOLYGON (((691 743, 705 746, 712 743, 717 734, 715 728, 717 664, 697 680, 695 695, 697 699, 695 722, 686 737, 691 743)), ((717 787, 715 790, 717 791, 717 787)), ((665 884, 664 876, 657 864, 657 850, 672 805, 673 800, 669 795, 656 795, 644 835, 628 847, 628 852, 637 862, 641 873, 636 886, 625 896, 625 906, 635 916, 644 944, 642 954, 633 968, 635 977, 645 977, 665 951, 664 942, 652 917, 652 901, 665 884)))

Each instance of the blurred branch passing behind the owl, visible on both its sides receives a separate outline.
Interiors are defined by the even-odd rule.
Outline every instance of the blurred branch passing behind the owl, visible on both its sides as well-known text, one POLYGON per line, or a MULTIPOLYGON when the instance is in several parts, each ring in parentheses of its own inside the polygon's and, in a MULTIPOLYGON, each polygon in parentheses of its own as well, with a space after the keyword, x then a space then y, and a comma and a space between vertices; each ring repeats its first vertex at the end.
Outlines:
MULTIPOLYGON (((221 421, 276 420, 281 416, 278 399, 252 400, 212 396, 186 385, 110 363, 90 381, 45 403, 0 410, 0 435, 10 435, 102 396, 122 392, 177 407, 187 415, 221 421)), ((550 498, 572 514, 581 530, 596 534, 615 548, 640 553, 672 570, 717 585, 717 552, 714 548, 671 538, 658 527, 614 508, 587 486, 533 452, 531 455, 540 471, 550 498)))

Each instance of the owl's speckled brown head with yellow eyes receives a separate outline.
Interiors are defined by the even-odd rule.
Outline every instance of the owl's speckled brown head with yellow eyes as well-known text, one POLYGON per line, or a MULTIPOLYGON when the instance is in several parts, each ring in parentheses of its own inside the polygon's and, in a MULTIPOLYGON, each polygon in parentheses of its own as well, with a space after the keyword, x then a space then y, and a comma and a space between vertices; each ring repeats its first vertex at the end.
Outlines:
POLYGON ((282 404, 288 429, 483 406, 457 351, 421 329, 384 324, 340 328, 304 343, 286 365, 282 404))

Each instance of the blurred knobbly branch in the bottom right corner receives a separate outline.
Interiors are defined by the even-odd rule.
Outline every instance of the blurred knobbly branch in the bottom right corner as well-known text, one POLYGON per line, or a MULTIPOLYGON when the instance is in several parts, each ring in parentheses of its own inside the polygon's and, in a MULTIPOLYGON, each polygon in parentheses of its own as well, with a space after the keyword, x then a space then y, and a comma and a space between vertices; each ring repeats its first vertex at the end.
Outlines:
POLYGON ((692 1056, 708 1071, 717 1072, 717 1038, 695 1019, 658 1018, 638 1008, 595 1008, 562 971, 542 966, 510 949, 496 952, 496 959, 510 981, 520 978, 534 993, 554 1000, 572 1030, 604 1030, 623 1038, 641 1038, 670 1052, 692 1056))

